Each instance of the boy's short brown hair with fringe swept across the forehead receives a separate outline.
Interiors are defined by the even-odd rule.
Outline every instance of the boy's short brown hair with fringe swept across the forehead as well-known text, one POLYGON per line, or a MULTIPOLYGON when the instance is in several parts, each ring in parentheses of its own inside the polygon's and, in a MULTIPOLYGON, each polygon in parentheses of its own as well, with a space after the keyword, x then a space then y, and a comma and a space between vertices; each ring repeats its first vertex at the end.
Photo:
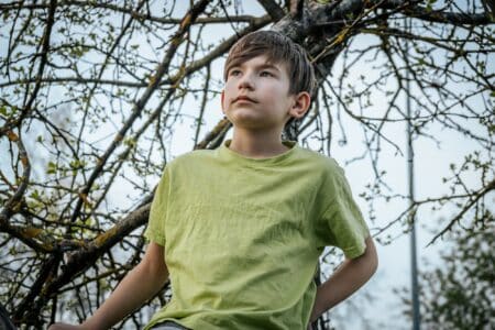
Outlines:
POLYGON ((307 91, 312 95, 315 72, 306 51, 288 36, 275 31, 256 31, 241 37, 229 52, 223 79, 233 66, 265 55, 271 64, 285 64, 289 77, 289 94, 307 91))

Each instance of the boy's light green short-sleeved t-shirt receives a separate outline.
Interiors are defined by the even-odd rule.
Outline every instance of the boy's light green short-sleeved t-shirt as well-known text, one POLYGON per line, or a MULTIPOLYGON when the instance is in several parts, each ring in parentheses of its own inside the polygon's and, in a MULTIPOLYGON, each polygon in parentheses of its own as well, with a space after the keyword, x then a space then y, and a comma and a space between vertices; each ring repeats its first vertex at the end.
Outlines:
POLYGON ((229 143, 165 168, 145 237, 165 246, 172 300, 147 327, 306 329, 323 248, 356 257, 369 229, 332 158, 295 142, 249 158, 229 143))

